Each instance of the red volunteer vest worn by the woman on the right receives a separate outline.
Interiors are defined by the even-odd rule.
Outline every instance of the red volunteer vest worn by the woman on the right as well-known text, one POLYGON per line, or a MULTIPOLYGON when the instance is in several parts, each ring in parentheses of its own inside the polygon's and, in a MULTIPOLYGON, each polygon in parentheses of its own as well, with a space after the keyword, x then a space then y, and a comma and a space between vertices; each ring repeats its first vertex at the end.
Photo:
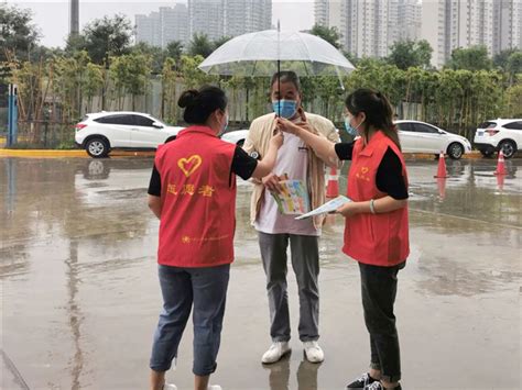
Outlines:
MULTIPOLYGON (((384 133, 377 132, 362 148, 362 138, 354 146, 348 174, 348 198, 356 202, 383 198, 376 175, 388 147, 399 156, 402 175, 407 186, 404 158, 395 144, 384 133)), ((383 214, 362 213, 346 219, 342 252, 356 260, 373 266, 391 267, 406 260, 410 254, 407 207, 383 214)))

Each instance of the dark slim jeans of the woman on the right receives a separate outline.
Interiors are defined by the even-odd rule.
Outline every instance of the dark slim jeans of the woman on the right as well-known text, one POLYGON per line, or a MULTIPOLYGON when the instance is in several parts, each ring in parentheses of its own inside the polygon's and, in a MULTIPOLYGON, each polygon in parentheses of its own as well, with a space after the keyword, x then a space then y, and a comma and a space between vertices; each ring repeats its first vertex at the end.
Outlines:
POLYGON ((396 276, 405 263, 394 267, 370 266, 359 263, 361 272, 362 308, 370 333, 371 365, 381 370, 382 379, 401 379, 401 356, 393 304, 396 297, 396 276))

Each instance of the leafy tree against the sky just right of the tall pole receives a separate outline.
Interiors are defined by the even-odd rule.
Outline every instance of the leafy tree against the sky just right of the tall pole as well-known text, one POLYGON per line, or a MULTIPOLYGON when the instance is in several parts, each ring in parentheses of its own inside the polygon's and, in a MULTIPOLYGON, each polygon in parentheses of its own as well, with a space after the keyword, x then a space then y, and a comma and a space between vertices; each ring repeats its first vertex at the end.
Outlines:
POLYGON ((117 57, 129 52, 132 25, 127 16, 118 14, 104 16, 90 22, 83 31, 85 49, 96 64, 108 67, 109 57, 117 57))

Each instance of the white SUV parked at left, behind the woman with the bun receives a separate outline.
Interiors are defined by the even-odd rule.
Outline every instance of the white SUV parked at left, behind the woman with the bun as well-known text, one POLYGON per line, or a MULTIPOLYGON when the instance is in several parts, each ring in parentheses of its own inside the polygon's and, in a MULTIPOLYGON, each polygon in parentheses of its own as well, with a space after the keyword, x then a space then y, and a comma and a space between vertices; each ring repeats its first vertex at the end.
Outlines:
POLYGON ((75 142, 94 158, 107 157, 111 149, 150 149, 175 140, 184 127, 168 126, 140 112, 87 114, 76 126, 75 142))

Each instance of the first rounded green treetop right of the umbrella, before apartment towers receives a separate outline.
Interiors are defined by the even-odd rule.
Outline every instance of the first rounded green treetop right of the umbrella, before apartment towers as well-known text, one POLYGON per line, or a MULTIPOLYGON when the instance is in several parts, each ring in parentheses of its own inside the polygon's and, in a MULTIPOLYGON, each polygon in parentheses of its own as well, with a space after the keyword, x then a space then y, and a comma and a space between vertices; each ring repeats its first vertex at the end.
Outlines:
POLYGON ((390 51, 388 62, 403 70, 411 67, 428 68, 432 60, 433 48, 427 41, 395 42, 390 51))

